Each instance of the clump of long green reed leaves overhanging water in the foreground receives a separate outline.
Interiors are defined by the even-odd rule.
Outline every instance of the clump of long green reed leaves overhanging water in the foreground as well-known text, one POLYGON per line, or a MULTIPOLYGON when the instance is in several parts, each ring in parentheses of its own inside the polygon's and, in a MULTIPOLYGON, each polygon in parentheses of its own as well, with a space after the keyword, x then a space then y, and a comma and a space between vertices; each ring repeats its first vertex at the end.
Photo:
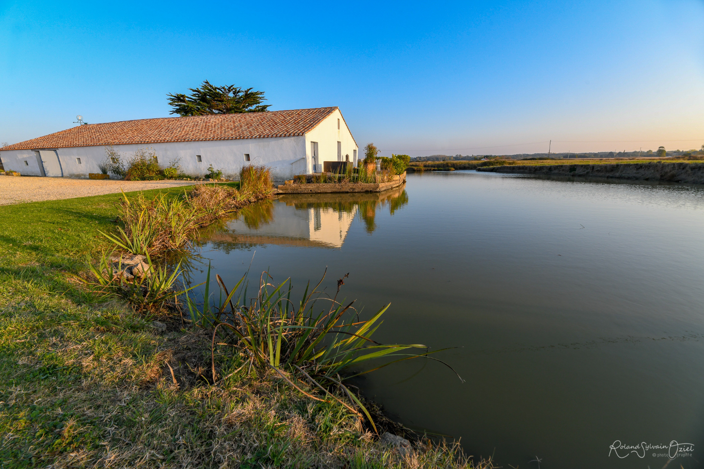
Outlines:
POLYGON ((218 305, 211 306, 208 269, 206 300, 202 309, 187 298, 194 321, 206 327, 214 326, 211 343, 213 382, 217 380, 215 343, 219 337, 221 343, 234 343, 234 347, 246 356, 250 369, 259 375, 273 371, 312 399, 335 399, 358 416, 362 415, 361 411, 376 430, 369 412, 343 383, 344 380, 397 361, 419 357, 434 359, 429 354, 440 351, 428 352, 427 347, 420 344, 384 345, 373 340, 372 335, 381 325, 382 314, 389 304, 371 319, 360 321, 353 308, 354 302, 344 305, 337 301, 343 279, 338 282, 334 298, 325 297, 318 290, 321 279, 312 289, 310 283, 306 285, 303 297, 296 302, 291 299, 290 280, 274 285, 267 272, 260 276, 256 297, 249 298, 247 275, 244 274, 231 290, 216 275, 223 295, 218 305), (425 349, 425 352, 419 352, 419 349, 425 349), (369 368, 360 369, 364 366, 369 368), (303 390, 299 381, 322 390, 325 399, 303 390), (339 390, 348 400, 342 401, 332 394, 330 390, 333 389, 339 390))

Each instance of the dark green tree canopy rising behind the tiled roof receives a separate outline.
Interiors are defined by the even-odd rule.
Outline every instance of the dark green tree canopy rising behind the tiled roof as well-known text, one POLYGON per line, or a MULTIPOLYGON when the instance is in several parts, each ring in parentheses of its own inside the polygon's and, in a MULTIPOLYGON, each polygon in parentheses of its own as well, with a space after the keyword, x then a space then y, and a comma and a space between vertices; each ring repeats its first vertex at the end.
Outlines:
POLYGON ((234 84, 230 86, 213 86, 206 80, 199 88, 189 88, 190 96, 185 94, 168 94, 169 104, 173 107, 170 114, 180 116, 210 114, 260 113, 268 110, 264 91, 241 89, 234 84))

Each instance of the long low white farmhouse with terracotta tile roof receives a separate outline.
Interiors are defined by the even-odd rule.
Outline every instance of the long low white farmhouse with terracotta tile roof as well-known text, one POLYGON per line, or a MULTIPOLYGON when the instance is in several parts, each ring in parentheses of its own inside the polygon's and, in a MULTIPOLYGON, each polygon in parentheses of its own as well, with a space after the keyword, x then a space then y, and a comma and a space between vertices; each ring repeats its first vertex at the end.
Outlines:
POLYGON ((84 124, 0 148, 6 171, 23 176, 88 177, 106 146, 130 158, 153 148, 161 165, 203 176, 208 167, 235 179, 243 165, 265 165, 276 180, 322 171, 325 161, 357 164, 358 146, 339 108, 160 117, 84 124))

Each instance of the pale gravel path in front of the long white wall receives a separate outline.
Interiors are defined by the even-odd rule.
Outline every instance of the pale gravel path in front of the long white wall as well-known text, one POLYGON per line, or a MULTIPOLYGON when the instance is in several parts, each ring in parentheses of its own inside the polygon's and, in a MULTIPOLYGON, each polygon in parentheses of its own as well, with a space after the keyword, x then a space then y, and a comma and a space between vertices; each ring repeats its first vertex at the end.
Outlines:
POLYGON ((0 176, 0 205, 58 200, 148 189, 192 186, 192 181, 112 181, 63 177, 0 176))

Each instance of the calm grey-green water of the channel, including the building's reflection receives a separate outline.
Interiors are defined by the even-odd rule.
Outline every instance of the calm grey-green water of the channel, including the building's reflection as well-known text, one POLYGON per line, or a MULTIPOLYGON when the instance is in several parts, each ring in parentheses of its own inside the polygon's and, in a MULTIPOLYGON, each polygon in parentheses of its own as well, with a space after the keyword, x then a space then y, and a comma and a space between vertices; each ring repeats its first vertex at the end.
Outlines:
MULTIPOLYGON (((401 423, 461 438, 503 467, 704 462, 704 187, 478 172, 409 174, 403 191, 285 196, 203 245, 234 285, 249 266, 318 280, 381 342, 458 347, 372 373, 401 423), (653 454, 656 454, 653 457, 653 454), (625 456, 620 458, 620 456, 625 456), (531 462, 533 461, 533 462, 531 462)), ((255 275, 258 279, 258 274, 255 275)), ((256 279, 253 278, 256 283, 256 279)), ((213 286, 215 286, 213 284, 213 286)))

